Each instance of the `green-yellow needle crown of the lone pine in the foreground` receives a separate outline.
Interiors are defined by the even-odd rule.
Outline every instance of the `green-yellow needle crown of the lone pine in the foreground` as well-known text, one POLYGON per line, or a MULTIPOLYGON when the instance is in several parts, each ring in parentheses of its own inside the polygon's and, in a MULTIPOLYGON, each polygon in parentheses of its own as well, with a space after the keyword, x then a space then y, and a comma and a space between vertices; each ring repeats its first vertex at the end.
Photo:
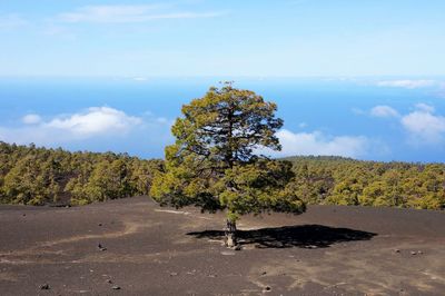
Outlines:
POLYGON ((295 175, 291 165, 254 154, 280 149, 275 134, 283 120, 275 117, 276 108, 230 83, 185 105, 151 196, 162 205, 227 210, 231 221, 248 213, 304 211, 305 204, 288 187, 295 175))

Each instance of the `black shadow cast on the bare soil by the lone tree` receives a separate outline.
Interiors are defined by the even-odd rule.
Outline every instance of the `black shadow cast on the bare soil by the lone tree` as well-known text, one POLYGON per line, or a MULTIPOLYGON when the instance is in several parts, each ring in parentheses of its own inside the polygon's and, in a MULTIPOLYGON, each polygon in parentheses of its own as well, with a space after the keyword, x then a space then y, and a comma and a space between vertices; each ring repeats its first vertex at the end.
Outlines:
MULTIPOLYGON (((225 231, 205 230, 188 233, 196 238, 224 239, 225 231)), ((335 228, 323 225, 297 225, 255 230, 237 230, 239 245, 255 245, 257 248, 327 248, 334 244, 354 240, 369 240, 377 234, 335 228)))

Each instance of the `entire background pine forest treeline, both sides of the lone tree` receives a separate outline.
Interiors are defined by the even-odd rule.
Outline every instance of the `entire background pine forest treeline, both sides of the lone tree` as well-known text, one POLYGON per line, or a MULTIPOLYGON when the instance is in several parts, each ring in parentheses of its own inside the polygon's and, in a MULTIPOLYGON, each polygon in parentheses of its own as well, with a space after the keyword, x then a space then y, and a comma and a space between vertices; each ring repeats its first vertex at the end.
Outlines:
MULTIPOLYGON (((445 208, 445 165, 291 157, 293 190, 309 205, 445 208)), ((86 205, 148 195, 162 160, 0 141, 0 203, 86 205)))

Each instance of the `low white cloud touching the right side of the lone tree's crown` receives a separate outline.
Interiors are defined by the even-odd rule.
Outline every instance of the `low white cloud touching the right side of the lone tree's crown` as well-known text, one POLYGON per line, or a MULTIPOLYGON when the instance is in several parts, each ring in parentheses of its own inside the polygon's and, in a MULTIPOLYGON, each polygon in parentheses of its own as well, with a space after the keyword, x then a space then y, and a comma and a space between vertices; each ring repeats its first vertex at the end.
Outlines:
POLYGON ((287 129, 281 129, 277 136, 283 150, 274 155, 279 157, 322 155, 357 158, 367 155, 372 148, 372 141, 364 136, 330 137, 320 131, 295 134, 287 129))

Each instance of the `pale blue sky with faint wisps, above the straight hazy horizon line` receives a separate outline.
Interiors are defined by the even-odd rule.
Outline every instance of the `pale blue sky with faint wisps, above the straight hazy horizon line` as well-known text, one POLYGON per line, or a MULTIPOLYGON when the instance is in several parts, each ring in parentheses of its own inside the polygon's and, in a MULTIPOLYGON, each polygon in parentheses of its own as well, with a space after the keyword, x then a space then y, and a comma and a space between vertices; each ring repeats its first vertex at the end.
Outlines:
POLYGON ((0 1, 1 76, 436 76, 441 0, 0 1))

